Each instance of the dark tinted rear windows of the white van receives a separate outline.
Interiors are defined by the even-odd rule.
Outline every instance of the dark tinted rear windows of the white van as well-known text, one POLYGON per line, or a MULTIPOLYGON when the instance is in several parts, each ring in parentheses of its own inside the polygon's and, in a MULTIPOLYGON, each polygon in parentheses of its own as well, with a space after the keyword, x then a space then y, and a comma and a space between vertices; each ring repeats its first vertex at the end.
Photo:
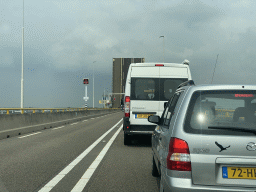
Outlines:
POLYGON ((132 100, 169 100, 186 78, 131 78, 132 100))

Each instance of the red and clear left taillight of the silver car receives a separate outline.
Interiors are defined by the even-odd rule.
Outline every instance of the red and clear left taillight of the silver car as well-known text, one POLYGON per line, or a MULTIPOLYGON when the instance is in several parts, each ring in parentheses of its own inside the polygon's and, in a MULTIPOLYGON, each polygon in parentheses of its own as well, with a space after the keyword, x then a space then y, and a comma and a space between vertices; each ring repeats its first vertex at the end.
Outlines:
POLYGON ((186 141, 172 137, 167 156, 167 168, 177 171, 191 171, 189 147, 186 141))

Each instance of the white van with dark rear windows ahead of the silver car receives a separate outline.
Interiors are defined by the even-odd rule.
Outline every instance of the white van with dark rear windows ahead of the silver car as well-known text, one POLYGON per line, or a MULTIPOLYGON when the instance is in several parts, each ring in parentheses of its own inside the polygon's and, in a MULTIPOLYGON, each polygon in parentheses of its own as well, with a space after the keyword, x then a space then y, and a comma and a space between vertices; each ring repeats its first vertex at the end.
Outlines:
POLYGON ((129 66, 124 98, 124 144, 128 145, 134 134, 152 134, 156 125, 148 116, 161 117, 164 102, 177 87, 192 80, 189 61, 177 63, 132 63, 129 66))

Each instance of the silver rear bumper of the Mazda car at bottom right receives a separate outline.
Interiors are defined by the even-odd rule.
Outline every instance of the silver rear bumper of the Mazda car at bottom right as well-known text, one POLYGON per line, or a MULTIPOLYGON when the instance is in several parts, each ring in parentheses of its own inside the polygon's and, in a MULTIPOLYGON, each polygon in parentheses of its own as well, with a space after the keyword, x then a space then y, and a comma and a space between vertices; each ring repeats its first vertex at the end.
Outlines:
POLYGON ((176 178, 166 174, 166 170, 162 170, 162 183, 165 192, 255 192, 255 188, 250 187, 230 187, 230 186, 203 186, 194 185, 191 178, 176 178))

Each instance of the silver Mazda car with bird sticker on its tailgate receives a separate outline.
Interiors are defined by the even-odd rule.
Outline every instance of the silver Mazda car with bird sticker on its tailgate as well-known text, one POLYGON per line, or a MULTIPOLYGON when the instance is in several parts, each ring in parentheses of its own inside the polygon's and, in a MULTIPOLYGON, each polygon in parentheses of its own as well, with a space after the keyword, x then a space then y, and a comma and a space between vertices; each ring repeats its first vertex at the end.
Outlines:
POLYGON ((181 85, 152 135, 160 191, 256 191, 256 86, 181 85))

